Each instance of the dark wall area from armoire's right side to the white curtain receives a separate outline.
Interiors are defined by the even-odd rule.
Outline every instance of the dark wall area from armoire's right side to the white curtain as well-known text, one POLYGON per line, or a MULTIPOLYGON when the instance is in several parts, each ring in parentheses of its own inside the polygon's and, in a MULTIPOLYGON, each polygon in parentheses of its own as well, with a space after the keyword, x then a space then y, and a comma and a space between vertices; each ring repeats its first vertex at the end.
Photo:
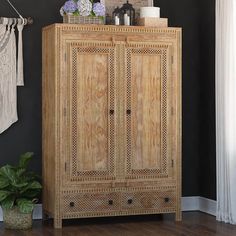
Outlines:
POLYGON ((156 0, 183 28, 183 195, 216 199, 215 0, 156 0))

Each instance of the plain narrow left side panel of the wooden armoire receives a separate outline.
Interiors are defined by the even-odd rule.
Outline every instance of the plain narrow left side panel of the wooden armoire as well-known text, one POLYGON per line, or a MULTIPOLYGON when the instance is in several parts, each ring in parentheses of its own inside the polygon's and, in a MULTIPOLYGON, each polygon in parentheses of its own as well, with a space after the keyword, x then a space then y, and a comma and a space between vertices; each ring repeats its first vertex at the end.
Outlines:
POLYGON ((43 144, 43 208, 55 212, 56 186, 56 48, 55 29, 43 34, 43 101, 42 101, 42 144, 43 144), (49 102, 50 101, 50 102, 49 102))

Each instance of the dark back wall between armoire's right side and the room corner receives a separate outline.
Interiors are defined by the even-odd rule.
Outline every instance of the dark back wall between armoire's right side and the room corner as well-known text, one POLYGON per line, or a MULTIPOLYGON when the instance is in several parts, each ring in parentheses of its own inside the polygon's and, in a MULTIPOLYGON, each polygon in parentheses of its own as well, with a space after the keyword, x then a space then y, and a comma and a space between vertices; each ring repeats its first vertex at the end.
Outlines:
POLYGON ((199 195, 199 2, 158 0, 169 26, 183 28, 183 195, 199 195))

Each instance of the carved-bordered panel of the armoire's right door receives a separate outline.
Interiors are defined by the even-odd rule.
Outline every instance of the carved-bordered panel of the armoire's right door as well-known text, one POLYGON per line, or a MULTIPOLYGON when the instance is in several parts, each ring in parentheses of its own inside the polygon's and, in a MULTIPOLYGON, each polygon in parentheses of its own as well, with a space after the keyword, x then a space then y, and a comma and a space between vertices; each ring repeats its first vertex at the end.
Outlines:
POLYGON ((130 44, 126 65, 126 178, 168 178, 171 45, 130 44))

